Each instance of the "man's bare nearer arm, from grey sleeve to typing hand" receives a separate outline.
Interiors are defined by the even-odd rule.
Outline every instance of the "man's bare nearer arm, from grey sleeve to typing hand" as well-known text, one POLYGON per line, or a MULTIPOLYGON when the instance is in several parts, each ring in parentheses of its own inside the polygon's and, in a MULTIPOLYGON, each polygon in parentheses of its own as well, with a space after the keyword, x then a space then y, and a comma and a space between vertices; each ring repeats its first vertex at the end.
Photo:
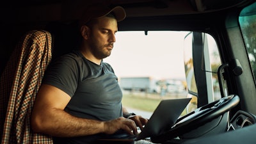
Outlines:
POLYGON ((42 84, 31 116, 33 131, 61 137, 113 134, 119 129, 124 129, 129 134, 132 134, 132 130, 136 134, 136 124, 127 118, 100 122, 68 114, 64 108, 70 99, 70 96, 59 88, 42 84))

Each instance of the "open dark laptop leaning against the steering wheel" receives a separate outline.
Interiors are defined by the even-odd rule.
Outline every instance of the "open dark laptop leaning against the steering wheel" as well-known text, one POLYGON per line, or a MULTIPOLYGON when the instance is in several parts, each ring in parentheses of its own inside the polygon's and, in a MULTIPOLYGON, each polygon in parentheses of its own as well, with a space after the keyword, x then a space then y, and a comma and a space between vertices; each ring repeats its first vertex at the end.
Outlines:
POLYGON ((161 100, 139 134, 129 135, 122 131, 106 136, 100 141, 138 141, 158 136, 175 124, 190 100, 191 98, 161 100))

